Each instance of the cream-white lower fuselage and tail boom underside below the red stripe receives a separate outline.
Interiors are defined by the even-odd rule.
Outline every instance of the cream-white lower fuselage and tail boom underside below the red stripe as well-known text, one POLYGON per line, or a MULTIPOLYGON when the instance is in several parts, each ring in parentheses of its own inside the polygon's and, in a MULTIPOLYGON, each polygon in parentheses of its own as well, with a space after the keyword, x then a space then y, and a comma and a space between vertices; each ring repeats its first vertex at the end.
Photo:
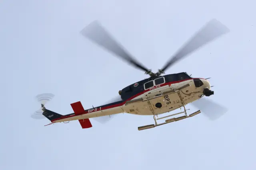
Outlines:
POLYGON ((169 111, 173 111, 188 103, 194 102, 200 98, 203 94, 203 90, 208 88, 210 90, 210 83, 208 80, 200 79, 204 85, 196 88, 193 79, 186 80, 179 83, 168 84, 165 86, 154 86, 150 91, 144 92, 143 94, 136 96, 131 101, 134 103, 124 103, 121 106, 110 107, 107 109, 95 108, 97 111, 86 113, 83 115, 78 115, 74 117, 69 117, 65 119, 60 119, 54 122, 72 121, 78 119, 87 119, 92 117, 100 117, 105 115, 113 115, 118 113, 130 113, 136 115, 160 115, 169 111), (177 90, 182 86, 189 84, 190 86, 183 88, 182 90, 177 90), (173 90, 176 90, 175 92, 173 90), (172 92, 171 92, 172 91, 172 92), (179 94, 178 94, 179 92, 179 94), (181 98, 183 101, 181 101, 181 98), (140 100, 141 99, 141 100, 140 100), (138 102, 138 100, 140 100, 138 102), (161 103, 162 107, 156 107, 156 103, 161 103))

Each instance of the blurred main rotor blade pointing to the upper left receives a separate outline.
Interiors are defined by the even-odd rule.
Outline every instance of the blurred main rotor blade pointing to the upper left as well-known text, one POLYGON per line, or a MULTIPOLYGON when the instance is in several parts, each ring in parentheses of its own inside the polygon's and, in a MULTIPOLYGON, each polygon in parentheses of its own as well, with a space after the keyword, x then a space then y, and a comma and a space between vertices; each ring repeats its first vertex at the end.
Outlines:
POLYGON ((148 71, 148 68, 142 66, 138 61, 136 61, 120 43, 117 43, 114 38, 108 33, 98 21, 93 21, 88 26, 86 26, 80 32, 84 37, 87 37, 97 45, 103 47, 109 52, 115 54, 116 56, 126 60, 128 63, 132 64, 136 68, 148 71))

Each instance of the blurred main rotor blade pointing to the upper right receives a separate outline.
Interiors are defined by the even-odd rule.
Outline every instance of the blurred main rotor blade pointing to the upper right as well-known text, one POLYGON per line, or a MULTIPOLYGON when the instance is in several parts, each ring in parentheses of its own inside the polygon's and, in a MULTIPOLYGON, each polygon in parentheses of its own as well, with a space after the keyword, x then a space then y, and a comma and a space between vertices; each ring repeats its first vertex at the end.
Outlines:
POLYGON ((220 23, 220 21, 216 19, 209 21, 166 63, 158 73, 161 74, 161 71, 164 72, 168 67, 172 66, 180 59, 229 31, 230 30, 220 23))

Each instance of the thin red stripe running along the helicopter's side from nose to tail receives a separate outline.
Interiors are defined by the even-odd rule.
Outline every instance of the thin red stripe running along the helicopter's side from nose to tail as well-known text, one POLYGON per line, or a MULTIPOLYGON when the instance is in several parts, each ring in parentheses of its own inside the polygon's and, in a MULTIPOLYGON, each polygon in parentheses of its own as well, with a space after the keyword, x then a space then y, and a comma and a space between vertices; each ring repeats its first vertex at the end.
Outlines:
MULTIPOLYGON (((164 84, 161 84, 161 87, 162 87, 162 86, 166 86, 166 85, 171 85, 171 84, 179 83, 179 82, 184 82, 184 81, 187 81, 187 80, 192 80, 192 79, 198 79, 198 78, 189 78, 189 79, 179 80, 179 81, 175 81, 175 82, 166 82, 166 83, 164 83, 164 84)), ((200 79, 204 79, 204 78, 200 78, 200 79)), ((120 103, 120 104, 114 104, 114 105, 110 105, 110 106, 106 106, 106 107, 101 107, 101 110, 105 110, 105 109, 110 109, 110 108, 113 108, 113 107, 122 106, 122 105, 124 105, 124 104, 126 103, 126 101, 132 100, 132 99, 136 98, 137 96, 140 96, 140 95, 142 95, 142 94, 144 94, 144 93, 146 93, 146 92, 148 92, 148 91, 150 91, 150 90, 149 90, 149 89, 148 89, 148 90, 144 90, 143 92, 140 92, 140 93, 138 93, 138 94, 136 94, 136 95, 130 97, 129 99, 125 100, 124 102, 122 102, 122 103, 120 103)), ((83 115, 83 114, 86 114, 86 113, 88 113, 88 111, 85 111, 85 110, 84 110, 84 111, 83 111, 82 113, 80 113, 80 114, 71 115, 71 116, 65 116, 65 115, 64 115, 64 116, 61 117, 61 118, 52 120, 52 122, 53 122, 53 121, 56 121, 56 120, 60 120, 60 119, 66 119, 66 118, 69 118, 69 117, 74 117, 74 116, 77 116, 77 115, 83 115)))

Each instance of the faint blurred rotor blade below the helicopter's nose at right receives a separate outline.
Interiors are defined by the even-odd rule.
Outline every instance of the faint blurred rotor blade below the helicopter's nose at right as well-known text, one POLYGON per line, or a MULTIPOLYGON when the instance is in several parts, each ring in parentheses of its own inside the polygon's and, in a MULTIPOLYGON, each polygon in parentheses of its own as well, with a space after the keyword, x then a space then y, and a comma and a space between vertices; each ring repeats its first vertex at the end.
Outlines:
POLYGON ((206 98, 200 98, 191 104, 200 109, 210 120, 216 120, 228 111, 226 107, 220 106, 206 98))

